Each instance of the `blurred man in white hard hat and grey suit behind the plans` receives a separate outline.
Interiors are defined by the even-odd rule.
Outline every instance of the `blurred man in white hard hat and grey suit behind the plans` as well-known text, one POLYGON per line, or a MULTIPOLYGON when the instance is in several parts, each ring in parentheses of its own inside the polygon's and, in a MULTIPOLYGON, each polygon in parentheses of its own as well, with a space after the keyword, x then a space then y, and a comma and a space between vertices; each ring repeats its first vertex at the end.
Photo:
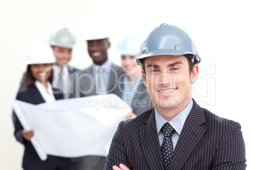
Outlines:
MULTIPOLYGON (((118 95, 118 79, 124 72, 121 67, 108 59, 110 41, 106 27, 103 25, 101 27, 88 25, 88 27, 90 29, 85 32, 85 41, 93 63, 87 69, 75 73, 71 97, 80 98, 108 93, 118 95)), ((85 156, 81 159, 80 170, 102 170, 105 162, 106 157, 85 156)))

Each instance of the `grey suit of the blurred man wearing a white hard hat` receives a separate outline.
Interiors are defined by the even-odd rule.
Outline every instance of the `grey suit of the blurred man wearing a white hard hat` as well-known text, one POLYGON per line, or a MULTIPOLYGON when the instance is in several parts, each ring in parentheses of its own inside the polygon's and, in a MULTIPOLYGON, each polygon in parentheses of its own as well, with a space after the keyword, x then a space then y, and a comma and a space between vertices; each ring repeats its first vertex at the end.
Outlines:
MULTIPOLYGON (((112 63, 110 81, 108 84, 108 93, 114 93, 116 95, 119 94, 117 83, 122 74, 124 74, 122 68, 112 63)), ((94 73, 92 66, 74 74, 73 89, 71 89, 71 91, 73 90, 73 93, 71 92, 71 98, 97 95, 93 75, 94 73)), ((97 155, 85 156, 81 158, 80 170, 102 170, 105 162, 106 157, 97 155)))

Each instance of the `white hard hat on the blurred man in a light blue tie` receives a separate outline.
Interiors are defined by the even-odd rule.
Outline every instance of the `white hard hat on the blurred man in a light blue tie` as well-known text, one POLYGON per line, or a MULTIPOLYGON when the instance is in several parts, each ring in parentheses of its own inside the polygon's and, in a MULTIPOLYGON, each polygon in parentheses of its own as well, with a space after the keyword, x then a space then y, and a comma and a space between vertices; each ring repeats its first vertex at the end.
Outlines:
POLYGON ((110 37, 110 28, 103 21, 89 22, 83 30, 83 41, 107 39, 110 37))

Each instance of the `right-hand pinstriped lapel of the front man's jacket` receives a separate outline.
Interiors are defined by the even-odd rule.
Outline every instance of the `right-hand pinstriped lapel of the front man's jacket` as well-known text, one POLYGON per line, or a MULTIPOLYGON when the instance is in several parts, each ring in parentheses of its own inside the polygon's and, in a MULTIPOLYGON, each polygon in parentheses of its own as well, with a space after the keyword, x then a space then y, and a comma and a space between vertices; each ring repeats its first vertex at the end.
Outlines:
POLYGON ((203 108, 199 107, 196 101, 194 101, 192 110, 185 121, 175 147, 169 170, 181 169, 183 167, 206 131, 202 126, 205 122, 203 108))

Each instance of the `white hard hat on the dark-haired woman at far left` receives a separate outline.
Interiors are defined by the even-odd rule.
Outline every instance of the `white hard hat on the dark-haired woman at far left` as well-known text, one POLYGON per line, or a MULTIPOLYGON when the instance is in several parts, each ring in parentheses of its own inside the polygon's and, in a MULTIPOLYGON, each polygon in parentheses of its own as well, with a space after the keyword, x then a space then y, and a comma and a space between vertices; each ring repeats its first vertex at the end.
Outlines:
POLYGON ((40 63, 55 63, 56 58, 52 48, 45 42, 36 41, 27 48, 27 56, 24 62, 28 65, 40 63))

